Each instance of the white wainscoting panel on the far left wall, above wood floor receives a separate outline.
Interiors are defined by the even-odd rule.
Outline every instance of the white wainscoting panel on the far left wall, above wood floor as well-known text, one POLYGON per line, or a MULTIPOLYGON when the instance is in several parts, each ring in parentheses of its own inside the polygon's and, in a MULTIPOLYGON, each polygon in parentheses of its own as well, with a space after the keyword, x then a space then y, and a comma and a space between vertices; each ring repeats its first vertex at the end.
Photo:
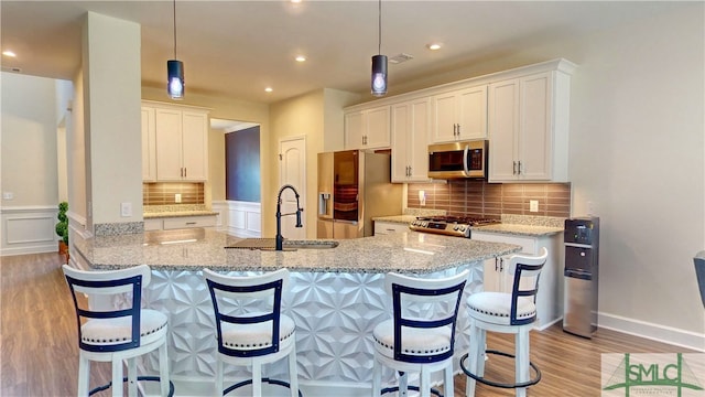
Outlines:
POLYGON ((58 251, 55 206, 2 207, 0 256, 58 251))

